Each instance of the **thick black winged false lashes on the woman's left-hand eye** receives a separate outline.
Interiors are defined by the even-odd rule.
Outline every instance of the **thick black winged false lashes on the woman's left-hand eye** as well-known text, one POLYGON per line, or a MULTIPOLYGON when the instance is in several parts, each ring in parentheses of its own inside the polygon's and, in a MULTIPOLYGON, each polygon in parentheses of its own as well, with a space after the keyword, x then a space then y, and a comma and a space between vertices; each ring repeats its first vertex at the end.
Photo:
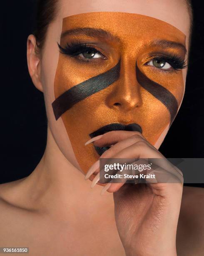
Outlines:
POLYGON ((81 54, 81 53, 83 53, 85 51, 93 51, 95 53, 97 53, 97 52, 100 53, 100 51, 95 49, 93 46, 90 46, 90 45, 88 45, 86 43, 84 43, 84 44, 80 43, 79 41, 72 42, 71 44, 67 43, 65 48, 60 46, 60 44, 58 44, 58 47, 59 47, 60 52, 62 54, 67 54, 67 55, 70 55, 70 56, 77 56, 77 55, 79 55, 79 54, 81 54))

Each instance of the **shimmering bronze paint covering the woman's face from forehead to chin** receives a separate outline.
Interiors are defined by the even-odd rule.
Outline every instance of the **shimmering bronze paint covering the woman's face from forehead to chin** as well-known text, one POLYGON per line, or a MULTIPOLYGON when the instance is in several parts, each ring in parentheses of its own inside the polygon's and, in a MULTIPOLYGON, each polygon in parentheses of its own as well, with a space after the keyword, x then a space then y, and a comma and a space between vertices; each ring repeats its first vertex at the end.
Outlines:
POLYGON ((173 63, 184 59, 185 35, 144 15, 84 13, 63 19, 60 46, 65 49, 67 44, 69 54, 59 56, 52 106, 83 172, 101 154, 92 144, 84 146, 100 128, 139 125, 154 145, 177 114, 184 83, 182 70, 165 71, 149 61, 161 56, 173 63), (76 44, 94 47, 105 58, 85 60, 81 53, 70 54, 76 44))

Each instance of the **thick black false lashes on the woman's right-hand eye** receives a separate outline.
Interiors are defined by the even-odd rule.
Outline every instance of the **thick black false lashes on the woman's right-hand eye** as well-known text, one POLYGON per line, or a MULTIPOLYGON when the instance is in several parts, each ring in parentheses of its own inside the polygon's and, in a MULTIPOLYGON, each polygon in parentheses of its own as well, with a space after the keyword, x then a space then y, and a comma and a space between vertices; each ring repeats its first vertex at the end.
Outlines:
POLYGON ((161 61, 168 62, 172 66, 174 71, 179 71, 180 69, 185 69, 187 67, 186 61, 179 58, 176 55, 154 56, 154 58, 152 58, 151 60, 153 60, 153 59, 158 59, 161 61))

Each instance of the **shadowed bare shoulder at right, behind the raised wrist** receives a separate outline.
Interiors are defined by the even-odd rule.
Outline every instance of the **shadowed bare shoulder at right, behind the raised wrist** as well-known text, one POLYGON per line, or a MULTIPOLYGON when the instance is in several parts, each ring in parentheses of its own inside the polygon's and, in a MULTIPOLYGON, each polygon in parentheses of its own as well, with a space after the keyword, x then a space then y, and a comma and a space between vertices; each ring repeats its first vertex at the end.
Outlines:
POLYGON ((184 186, 177 228, 178 255, 203 255, 204 188, 184 186))

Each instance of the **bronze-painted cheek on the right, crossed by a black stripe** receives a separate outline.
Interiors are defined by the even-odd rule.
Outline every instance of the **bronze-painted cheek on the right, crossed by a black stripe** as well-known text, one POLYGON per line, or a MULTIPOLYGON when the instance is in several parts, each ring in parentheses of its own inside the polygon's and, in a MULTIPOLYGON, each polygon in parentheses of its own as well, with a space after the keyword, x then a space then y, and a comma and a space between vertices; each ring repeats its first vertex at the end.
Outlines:
POLYGON ((144 137, 153 145, 172 124, 184 95, 182 71, 163 72, 155 68, 136 67, 140 84, 142 107, 140 115, 144 137))

